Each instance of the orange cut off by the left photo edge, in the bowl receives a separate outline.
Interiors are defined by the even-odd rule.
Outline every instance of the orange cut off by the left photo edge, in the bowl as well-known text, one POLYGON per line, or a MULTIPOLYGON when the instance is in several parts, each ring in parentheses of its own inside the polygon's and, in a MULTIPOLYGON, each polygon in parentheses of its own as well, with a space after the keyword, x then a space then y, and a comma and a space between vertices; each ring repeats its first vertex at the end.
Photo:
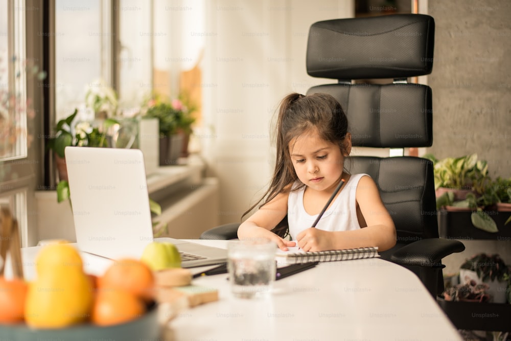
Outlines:
POLYGON ((14 324, 24 320, 27 291, 25 281, 0 277, 0 323, 14 324))

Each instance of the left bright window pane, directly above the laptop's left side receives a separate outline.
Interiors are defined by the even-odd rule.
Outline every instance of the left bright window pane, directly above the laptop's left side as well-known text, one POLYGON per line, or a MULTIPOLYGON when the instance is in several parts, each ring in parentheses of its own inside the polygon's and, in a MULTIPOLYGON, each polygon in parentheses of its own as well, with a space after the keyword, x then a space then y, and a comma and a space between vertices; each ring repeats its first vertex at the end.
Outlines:
POLYGON ((87 87, 99 79, 111 83, 111 11, 105 4, 110 2, 55 0, 55 122, 75 108, 85 110, 87 87))

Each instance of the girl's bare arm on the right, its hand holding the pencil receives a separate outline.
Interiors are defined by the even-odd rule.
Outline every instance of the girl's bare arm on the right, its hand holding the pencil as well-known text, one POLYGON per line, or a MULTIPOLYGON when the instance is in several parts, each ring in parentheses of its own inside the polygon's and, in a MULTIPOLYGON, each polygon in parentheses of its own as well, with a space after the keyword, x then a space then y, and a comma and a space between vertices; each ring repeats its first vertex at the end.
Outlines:
POLYGON ((360 230, 328 232, 307 229, 298 234, 298 246, 305 251, 322 251, 378 246, 385 251, 396 245, 396 227, 378 191, 375 181, 363 176, 357 186, 357 202, 366 226, 360 230))

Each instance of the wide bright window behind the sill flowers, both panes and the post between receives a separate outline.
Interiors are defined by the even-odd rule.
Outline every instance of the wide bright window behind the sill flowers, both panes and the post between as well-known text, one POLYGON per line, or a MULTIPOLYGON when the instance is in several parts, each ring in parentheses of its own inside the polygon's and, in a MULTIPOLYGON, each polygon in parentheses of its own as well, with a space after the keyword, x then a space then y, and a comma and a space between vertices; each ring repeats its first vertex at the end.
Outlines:
POLYGON ((203 32, 203 11, 191 0, 55 0, 55 122, 86 112, 86 90, 100 79, 115 88, 124 116, 152 92, 175 98, 184 88, 200 102, 200 76, 189 78, 204 46, 193 34, 203 32))

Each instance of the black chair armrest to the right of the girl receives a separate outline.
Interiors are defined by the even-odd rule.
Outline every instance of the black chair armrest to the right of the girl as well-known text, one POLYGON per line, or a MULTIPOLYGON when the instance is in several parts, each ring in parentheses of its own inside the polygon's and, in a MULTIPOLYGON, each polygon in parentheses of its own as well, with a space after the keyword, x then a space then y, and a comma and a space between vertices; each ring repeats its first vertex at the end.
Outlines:
POLYGON ((417 240, 398 249, 390 260, 400 265, 444 267, 442 258, 462 252, 465 246, 458 240, 428 238, 417 240))

